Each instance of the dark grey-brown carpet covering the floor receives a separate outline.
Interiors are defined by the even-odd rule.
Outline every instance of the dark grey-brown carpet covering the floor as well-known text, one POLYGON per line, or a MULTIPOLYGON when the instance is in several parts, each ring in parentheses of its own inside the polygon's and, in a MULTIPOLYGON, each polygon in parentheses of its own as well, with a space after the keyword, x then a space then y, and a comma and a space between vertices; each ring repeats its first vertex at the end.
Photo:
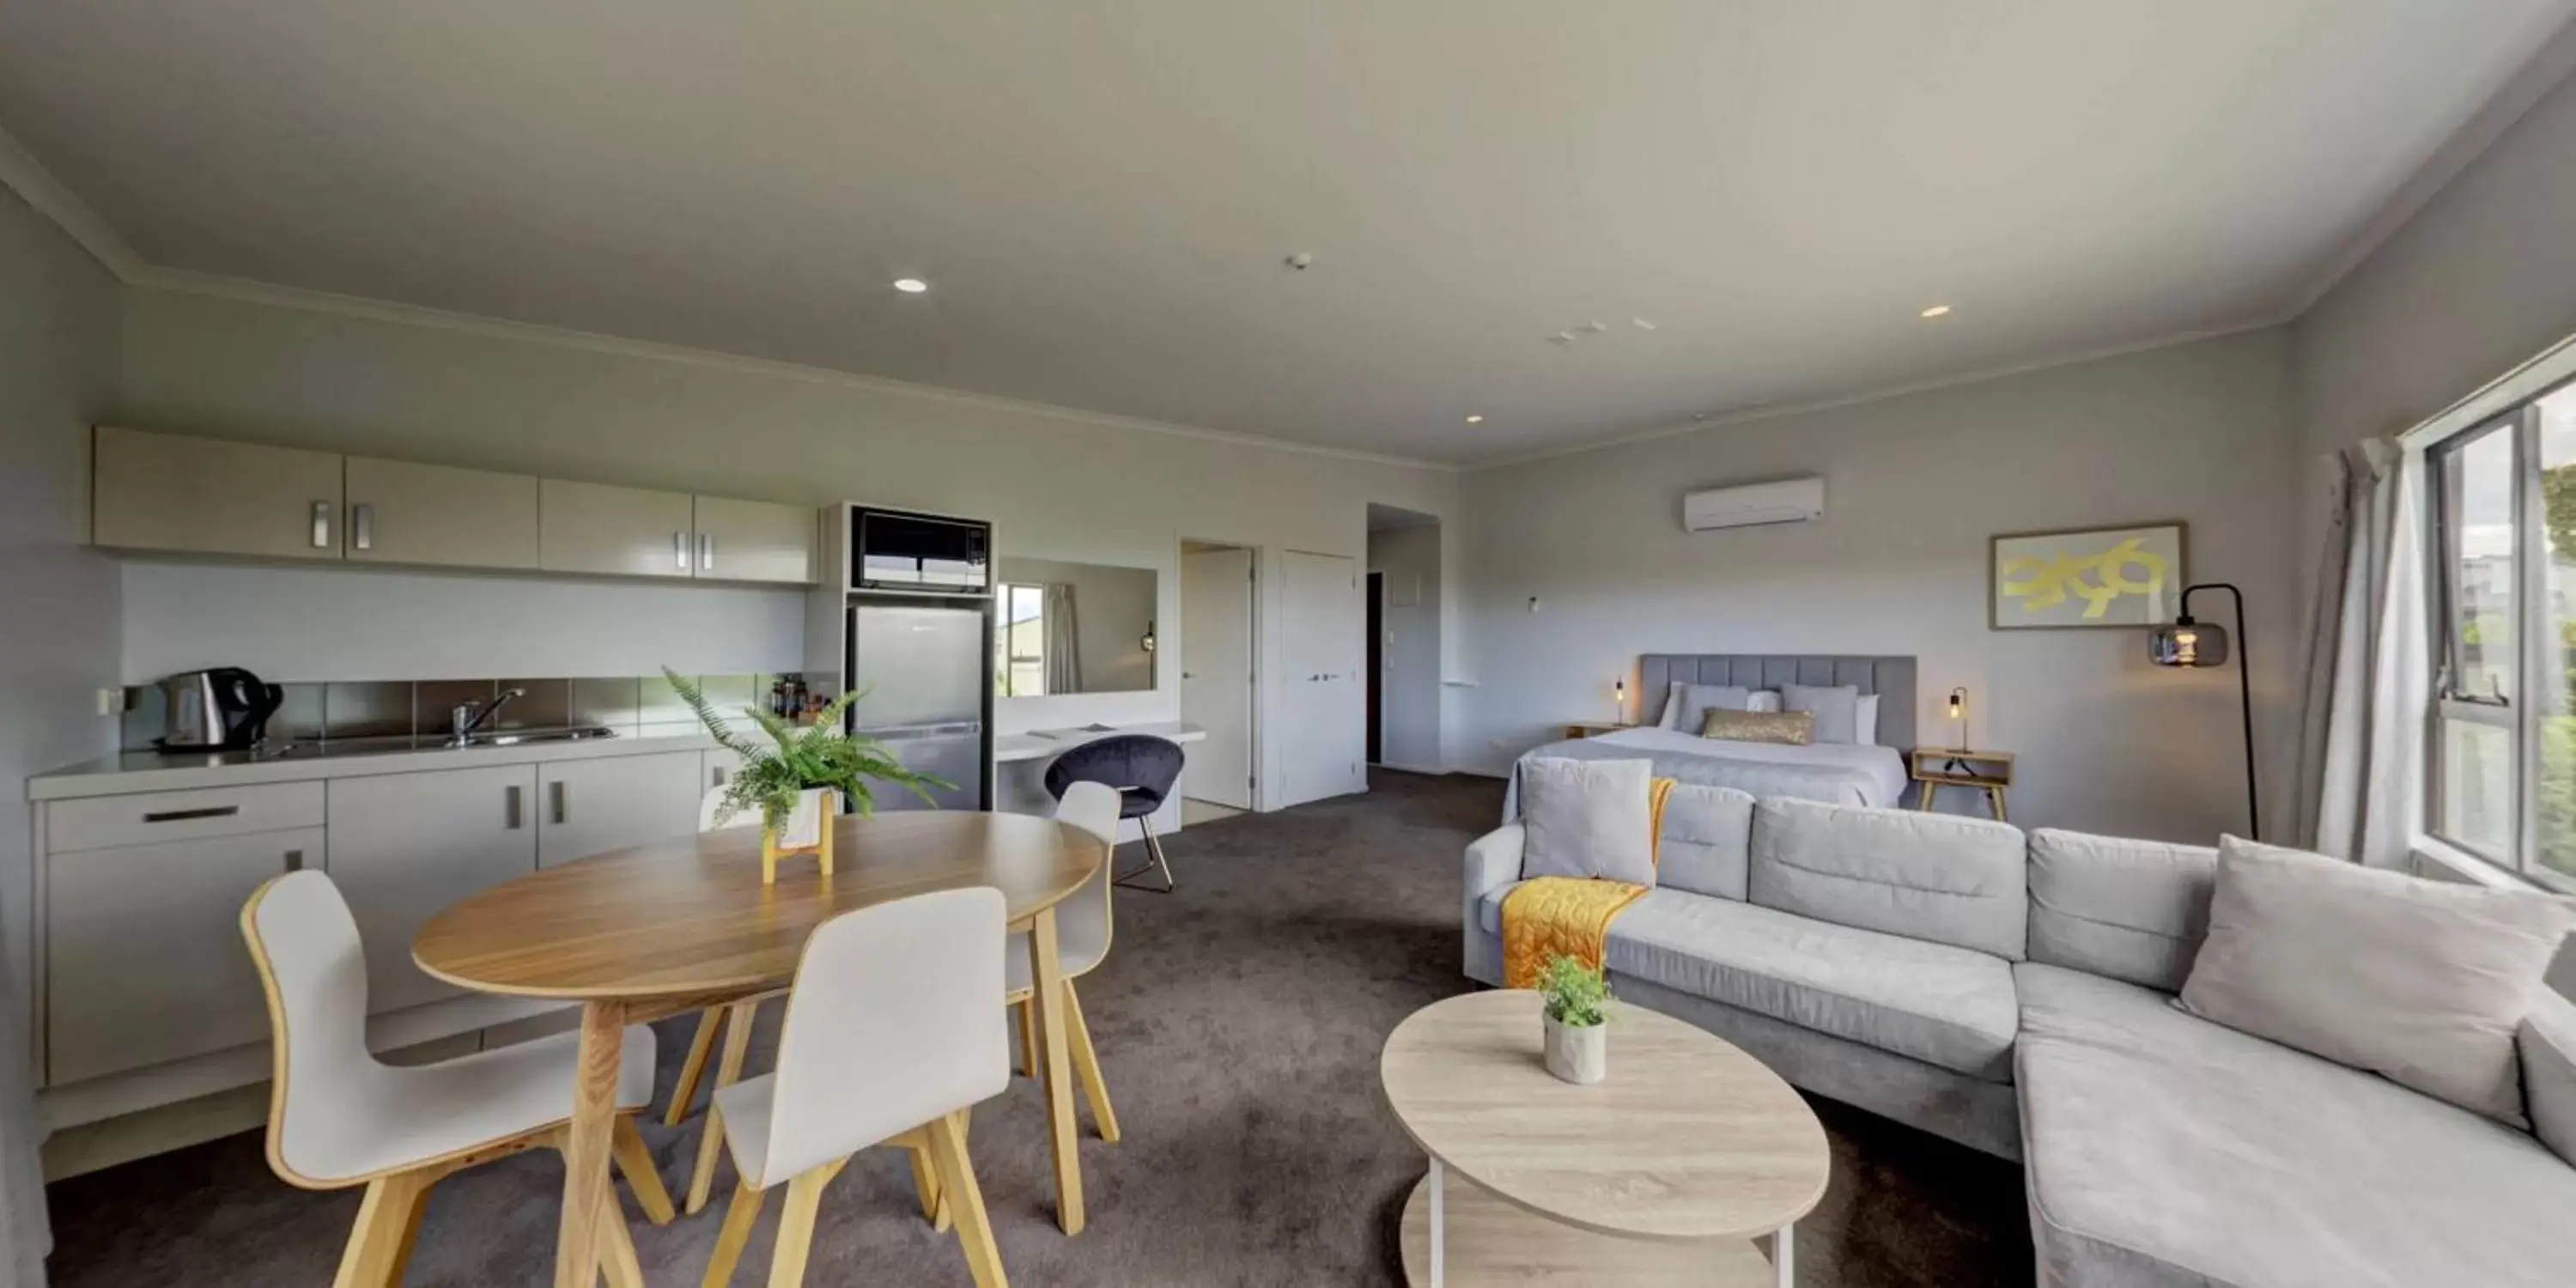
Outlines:
MULTIPOLYGON (((1386 773, 1373 786, 1193 827, 1170 845, 1180 894, 1118 896, 1115 951, 1082 979, 1082 1005, 1126 1141, 1103 1144, 1084 1118, 1079 1239, 1054 1226, 1036 1087, 1015 1079, 974 1118, 1012 1283, 1401 1283, 1394 1226, 1422 1157, 1378 1095, 1378 1046, 1412 1010, 1468 987, 1458 850, 1492 827, 1499 783, 1386 773)), ((685 1020, 662 1028, 665 1087, 685 1041, 685 1020)), ((2030 1283, 2017 1167, 1844 1105, 1816 1110, 1834 1182, 1798 1226, 1801 1285, 2030 1283)), ((644 1128, 675 1193, 696 1131, 696 1118, 644 1128)), ((559 1185, 551 1154, 443 1182, 407 1283, 544 1283, 559 1185)), ((698 1283, 729 1193, 726 1170, 708 1211, 665 1229, 634 1221, 652 1283, 698 1283)), ((62 1288, 276 1288, 330 1283, 358 1195, 283 1185, 258 1133, 242 1133, 59 1182, 52 1208, 62 1288)), ((775 1203, 734 1283, 765 1283, 773 1226, 775 1203)), ((827 1195, 806 1283, 969 1278, 956 1239, 920 1221, 902 1154, 878 1149, 827 1195)))

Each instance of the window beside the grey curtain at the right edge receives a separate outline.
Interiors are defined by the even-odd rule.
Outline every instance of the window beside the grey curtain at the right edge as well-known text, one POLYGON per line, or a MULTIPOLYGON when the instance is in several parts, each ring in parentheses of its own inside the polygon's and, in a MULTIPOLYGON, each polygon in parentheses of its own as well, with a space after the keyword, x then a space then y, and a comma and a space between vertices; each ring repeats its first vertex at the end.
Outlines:
POLYGON ((2576 891, 2576 384, 2427 451, 2432 829, 2576 891))

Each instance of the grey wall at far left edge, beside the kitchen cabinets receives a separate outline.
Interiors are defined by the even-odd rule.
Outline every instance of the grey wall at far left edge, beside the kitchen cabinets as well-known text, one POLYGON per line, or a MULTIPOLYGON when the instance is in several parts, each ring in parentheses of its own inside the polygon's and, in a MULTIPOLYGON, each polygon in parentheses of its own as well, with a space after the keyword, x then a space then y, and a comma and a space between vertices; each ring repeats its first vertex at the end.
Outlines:
MULTIPOLYGON (((23 1095, 31 948, 21 781, 116 750, 116 567, 88 531, 88 422, 116 368, 116 283, 52 219, 0 191, 0 1095, 23 1095)), ((0 1115, 5 1123, 5 1115, 0 1115)), ((5 1131, 5 1128, 0 1128, 5 1131)), ((36 1141, 0 1139, 0 1278, 41 1283, 36 1141)))

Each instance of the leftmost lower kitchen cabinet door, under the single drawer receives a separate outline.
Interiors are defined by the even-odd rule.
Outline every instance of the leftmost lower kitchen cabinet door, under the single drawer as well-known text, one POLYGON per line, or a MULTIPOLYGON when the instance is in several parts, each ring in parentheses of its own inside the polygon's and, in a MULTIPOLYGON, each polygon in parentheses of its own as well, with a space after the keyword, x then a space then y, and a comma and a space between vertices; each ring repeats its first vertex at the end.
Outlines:
POLYGON ((46 860, 46 1082, 144 1069, 268 1036, 242 904, 325 863, 319 827, 196 835, 46 860))

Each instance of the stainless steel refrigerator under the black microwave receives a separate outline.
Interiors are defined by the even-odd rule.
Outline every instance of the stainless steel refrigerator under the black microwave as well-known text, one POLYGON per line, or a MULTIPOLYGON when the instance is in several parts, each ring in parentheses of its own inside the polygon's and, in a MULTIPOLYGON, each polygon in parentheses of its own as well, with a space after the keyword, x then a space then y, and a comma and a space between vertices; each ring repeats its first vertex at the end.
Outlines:
MULTIPOLYGON (((850 595, 850 729, 873 737, 940 809, 987 809, 992 793, 992 595, 850 595)), ((927 809, 899 786, 876 809, 927 809)))

